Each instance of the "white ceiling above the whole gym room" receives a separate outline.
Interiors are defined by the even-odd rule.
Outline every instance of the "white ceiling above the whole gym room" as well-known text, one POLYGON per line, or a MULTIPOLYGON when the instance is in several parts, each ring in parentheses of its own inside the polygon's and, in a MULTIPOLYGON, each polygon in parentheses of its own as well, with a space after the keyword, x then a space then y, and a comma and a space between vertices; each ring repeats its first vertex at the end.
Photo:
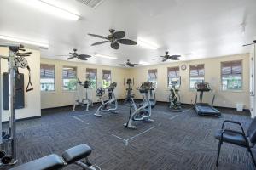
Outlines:
POLYGON ((48 50, 41 49, 44 58, 66 60, 67 57, 55 55, 68 54, 73 48, 78 48, 80 54, 118 57, 117 60, 92 57, 87 61, 100 65, 118 65, 126 59, 154 65, 160 61, 152 59, 166 50, 182 54, 185 60, 242 54, 248 53, 249 48, 241 45, 256 39, 255 0, 105 0, 97 8, 76 0, 58 1, 76 9, 82 19, 65 20, 19 0, 1 0, 0 35, 49 42, 48 50), (241 33, 242 22, 246 23, 245 34, 241 33), (87 33, 107 36, 109 28, 126 31, 126 37, 133 40, 143 37, 160 48, 121 45, 114 50, 108 43, 90 47, 101 39, 87 33))

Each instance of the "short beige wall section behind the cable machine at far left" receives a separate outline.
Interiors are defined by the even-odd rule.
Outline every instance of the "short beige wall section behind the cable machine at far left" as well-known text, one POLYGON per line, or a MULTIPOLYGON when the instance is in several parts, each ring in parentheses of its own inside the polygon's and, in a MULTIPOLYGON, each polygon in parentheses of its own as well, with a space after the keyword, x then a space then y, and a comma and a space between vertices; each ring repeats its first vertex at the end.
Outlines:
MULTIPOLYGON (((32 117, 32 116, 41 116, 41 100, 40 100, 40 52, 38 50, 29 50, 32 51, 30 57, 26 57, 28 61, 28 65, 31 68, 31 76, 32 76, 32 86, 34 90, 26 93, 25 92, 25 108, 16 110, 16 117, 17 119, 32 117)), ((0 48, 0 54, 7 56, 9 52, 8 48, 0 48)), ((8 71, 6 59, 1 59, 1 73, 8 71)), ((19 69, 20 73, 24 73, 24 86, 26 88, 26 84, 28 82, 28 71, 26 69, 19 69)), ((2 75, 1 75, 1 82, 2 83, 2 75)), ((2 89, 0 89, 0 93, 2 93, 2 89)), ((2 101, 1 96, 1 101, 2 101)), ((3 104, 3 103, 1 103, 3 104)), ((3 111, 3 110, 2 110, 3 111)), ((9 111, 2 112, 2 121, 9 120, 9 111)))

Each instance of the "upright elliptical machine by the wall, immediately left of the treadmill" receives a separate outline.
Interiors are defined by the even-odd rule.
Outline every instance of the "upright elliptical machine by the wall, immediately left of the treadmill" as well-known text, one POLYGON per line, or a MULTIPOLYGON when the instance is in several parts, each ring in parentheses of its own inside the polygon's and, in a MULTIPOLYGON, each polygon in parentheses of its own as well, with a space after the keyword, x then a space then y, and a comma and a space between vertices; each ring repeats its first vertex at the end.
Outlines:
POLYGON ((181 85, 180 77, 172 77, 169 94, 169 108, 170 111, 182 111, 181 102, 180 102, 180 95, 179 95, 179 88, 181 85))

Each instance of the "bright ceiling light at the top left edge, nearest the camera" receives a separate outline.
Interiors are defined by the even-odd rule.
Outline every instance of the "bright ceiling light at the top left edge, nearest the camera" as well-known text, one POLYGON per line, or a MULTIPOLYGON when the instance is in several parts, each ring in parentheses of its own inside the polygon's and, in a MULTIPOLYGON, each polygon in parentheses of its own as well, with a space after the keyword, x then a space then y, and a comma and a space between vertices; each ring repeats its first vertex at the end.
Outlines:
POLYGON ((55 0, 18 0, 27 5, 38 8, 48 14, 67 19, 67 20, 79 20, 79 14, 75 14, 74 9, 68 8, 63 3, 56 2, 55 0))

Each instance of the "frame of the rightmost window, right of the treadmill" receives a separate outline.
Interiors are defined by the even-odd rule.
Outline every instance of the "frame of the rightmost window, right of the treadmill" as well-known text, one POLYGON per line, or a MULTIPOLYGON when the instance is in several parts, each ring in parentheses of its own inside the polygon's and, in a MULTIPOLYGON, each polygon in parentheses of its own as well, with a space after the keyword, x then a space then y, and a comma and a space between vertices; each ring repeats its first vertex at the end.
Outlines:
MULTIPOLYGON (((232 69, 232 68, 231 68, 232 69)), ((232 74, 230 74, 231 76, 233 76, 232 74)), ((230 76, 229 75, 229 76, 230 76)), ((226 60, 226 61, 221 61, 220 62, 220 90, 222 92, 236 92, 236 93, 240 93, 243 92, 244 90, 244 83, 243 83, 243 59, 236 59, 236 60, 226 60), (237 61, 241 61, 241 89, 226 89, 224 90, 223 88, 223 75, 222 75, 222 65, 223 63, 230 63, 230 62, 237 62, 237 61)))

